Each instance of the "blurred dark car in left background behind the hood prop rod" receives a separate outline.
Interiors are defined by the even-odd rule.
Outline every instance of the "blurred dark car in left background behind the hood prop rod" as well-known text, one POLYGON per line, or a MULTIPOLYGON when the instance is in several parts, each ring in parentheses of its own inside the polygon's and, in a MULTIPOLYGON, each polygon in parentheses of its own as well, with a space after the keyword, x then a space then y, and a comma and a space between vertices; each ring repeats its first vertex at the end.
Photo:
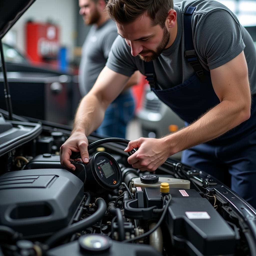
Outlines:
MULTIPOLYGON (((3 44, 3 52, 13 113, 70 125, 81 99, 76 77, 49 65, 33 65, 8 44, 3 44)), ((3 81, 3 72, 0 72, 0 91, 4 90, 3 81)), ((6 110, 3 94, 0 95, 0 108, 6 110)))

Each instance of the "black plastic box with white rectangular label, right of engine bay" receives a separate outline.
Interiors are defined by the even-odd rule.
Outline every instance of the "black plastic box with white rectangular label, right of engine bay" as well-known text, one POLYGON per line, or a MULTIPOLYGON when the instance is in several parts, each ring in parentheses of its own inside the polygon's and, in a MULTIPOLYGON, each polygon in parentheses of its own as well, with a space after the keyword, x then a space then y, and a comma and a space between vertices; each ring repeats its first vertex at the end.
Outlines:
POLYGON ((176 247, 189 255, 233 254, 236 234, 194 189, 170 188, 167 225, 176 247))

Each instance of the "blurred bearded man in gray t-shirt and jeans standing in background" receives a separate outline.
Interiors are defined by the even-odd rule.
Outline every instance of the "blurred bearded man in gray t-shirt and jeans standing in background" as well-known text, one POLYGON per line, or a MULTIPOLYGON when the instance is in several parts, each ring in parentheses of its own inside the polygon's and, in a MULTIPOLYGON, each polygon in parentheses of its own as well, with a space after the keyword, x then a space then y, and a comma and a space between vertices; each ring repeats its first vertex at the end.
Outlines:
MULTIPOLYGON (((82 47, 79 66, 79 90, 86 95, 105 67, 111 46, 117 37, 117 28, 108 12, 105 0, 79 0, 79 14, 86 25, 92 25, 82 47)), ((123 92, 106 109, 105 117, 96 130, 111 137, 125 138, 126 126, 134 116, 135 103, 129 89, 137 84, 138 72, 128 81, 123 92)))

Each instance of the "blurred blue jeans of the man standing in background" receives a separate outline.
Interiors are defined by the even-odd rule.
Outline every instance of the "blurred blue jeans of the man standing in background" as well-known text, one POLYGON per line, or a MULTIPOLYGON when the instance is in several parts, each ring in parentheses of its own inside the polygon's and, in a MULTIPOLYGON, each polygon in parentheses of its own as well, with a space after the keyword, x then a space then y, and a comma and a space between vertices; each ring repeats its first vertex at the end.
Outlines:
POLYGON ((98 134, 125 138, 126 125, 134 116, 135 103, 130 90, 120 94, 106 109, 98 134))

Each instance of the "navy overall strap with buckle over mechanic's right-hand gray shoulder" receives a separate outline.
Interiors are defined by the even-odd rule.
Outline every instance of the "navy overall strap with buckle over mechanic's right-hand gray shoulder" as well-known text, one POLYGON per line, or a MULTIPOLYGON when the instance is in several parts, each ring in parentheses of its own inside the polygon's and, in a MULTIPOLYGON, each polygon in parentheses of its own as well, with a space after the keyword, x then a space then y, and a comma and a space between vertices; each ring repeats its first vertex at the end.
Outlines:
POLYGON ((192 37, 192 15, 196 7, 189 6, 184 14, 185 57, 201 81, 205 80, 204 69, 198 61, 192 37))

